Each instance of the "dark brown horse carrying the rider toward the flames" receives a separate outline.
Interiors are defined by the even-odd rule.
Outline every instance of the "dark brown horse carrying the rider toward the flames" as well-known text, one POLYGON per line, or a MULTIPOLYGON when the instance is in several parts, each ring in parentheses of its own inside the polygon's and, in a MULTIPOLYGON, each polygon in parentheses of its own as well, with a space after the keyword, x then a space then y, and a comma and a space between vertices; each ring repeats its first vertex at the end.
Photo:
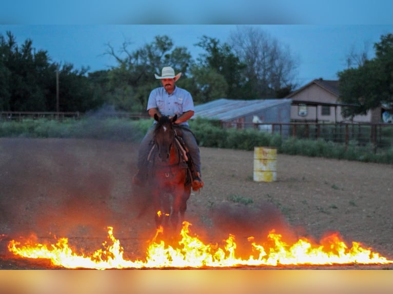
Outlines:
POLYGON ((167 226, 170 219, 175 229, 184 220, 187 200, 191 193, 187 154, 180 144, 181 130, 174 127, 175 115, 154 115, 157 121, 154 129, 154 146, 149 154, 150 177, 148 180, 153 197, 155 223, 167 226))

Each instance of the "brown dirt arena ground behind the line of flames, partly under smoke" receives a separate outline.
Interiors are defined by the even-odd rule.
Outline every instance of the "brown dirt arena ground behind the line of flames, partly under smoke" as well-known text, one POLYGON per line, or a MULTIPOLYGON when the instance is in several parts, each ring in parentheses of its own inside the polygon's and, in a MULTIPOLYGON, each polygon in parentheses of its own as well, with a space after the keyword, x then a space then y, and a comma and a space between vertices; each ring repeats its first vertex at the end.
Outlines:
MULTIPOLYGON (((113 226, 125 256, 143 258, 155 234, 132 186, 137 144, 85 139, 0 138, 0 269, 47 268, 16 260, 10 240, 68 237, 85 250, 100 248, 113 226)), ((277 156, 277 181, 253 181, 253 152, 201 148, 205 186, 192 192, 186 220, 206 242, 229 234, 320 240, 339 232, 393 259, 393 166, 277 156), (233 199, 247 200, 247 205, 233 199)), ((383 268, 392 268, 390 265, 383 268)))

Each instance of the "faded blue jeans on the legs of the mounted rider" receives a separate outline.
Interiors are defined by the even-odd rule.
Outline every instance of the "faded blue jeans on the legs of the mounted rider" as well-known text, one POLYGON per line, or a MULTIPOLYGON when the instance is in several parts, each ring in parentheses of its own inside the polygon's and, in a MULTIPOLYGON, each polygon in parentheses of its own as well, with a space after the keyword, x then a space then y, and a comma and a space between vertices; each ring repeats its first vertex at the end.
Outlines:
MULTIPOLYGON (((143 171, 143 167, 146 165, 147 157, 149 156, 149 152, 151 150, 152 141, 153 141, 153 133, 154 133, 155 125, 152 125, 142 139, 141 144, 139 145, 139 157, 138 157, 138 170, 143 171)), ((191 130, 188 127, 182 125, 182 138, 184 143, 186 144, 189 154, 191 156, 192 162, 194 163, 195 170, 201 174, 201 155, 199 152, 199 147, 197 140, 194 135, 191 133, 191 130)), ((147 171, 145 171, 147 172, 147 171)))

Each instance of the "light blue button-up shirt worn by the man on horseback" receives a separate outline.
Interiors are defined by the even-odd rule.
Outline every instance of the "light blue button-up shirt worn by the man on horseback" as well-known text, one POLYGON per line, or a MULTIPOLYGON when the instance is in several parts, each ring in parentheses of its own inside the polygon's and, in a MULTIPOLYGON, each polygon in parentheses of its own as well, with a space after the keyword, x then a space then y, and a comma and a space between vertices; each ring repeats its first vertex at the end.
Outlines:
MULTIPOLYGON (((160 87, 150 92, 146 110, 151 108, 157 108, 162 115, 181 116, 184 112, 194 111, 194 102, 187 90, 175 87, 173 93, 168 94, 164 87, 160 87)), ((180 124, 188 126, 187 121, 180 124)))

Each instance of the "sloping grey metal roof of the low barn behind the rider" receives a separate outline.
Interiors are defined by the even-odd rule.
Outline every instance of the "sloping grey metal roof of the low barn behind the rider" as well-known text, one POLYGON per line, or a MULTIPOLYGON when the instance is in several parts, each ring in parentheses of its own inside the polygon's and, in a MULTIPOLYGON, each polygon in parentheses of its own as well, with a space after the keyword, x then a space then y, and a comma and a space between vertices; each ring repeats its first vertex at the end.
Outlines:
POLYGON ((228 121, 280 104, 291 103, 291 101, 291 99, 232 100, 221 98, 195 106, 193 118, 203 117, 228 121))

